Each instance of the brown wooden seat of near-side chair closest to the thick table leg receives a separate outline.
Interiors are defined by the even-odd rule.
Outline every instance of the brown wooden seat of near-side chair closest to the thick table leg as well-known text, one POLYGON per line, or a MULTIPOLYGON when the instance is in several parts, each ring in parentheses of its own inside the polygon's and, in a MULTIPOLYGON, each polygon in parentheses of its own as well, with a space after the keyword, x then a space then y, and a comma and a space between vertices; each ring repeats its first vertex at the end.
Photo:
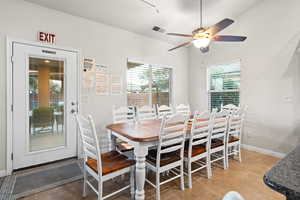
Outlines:
MULTIPOLYGON (((166 166, 168 164, 171 164, 173 162, 180 160, 180 151, 172 152, 172 153, 164 153, 160 156, 160 166, 166 166)), ((151 165, 156 166, 156 159, 157 159, 157 149, 152 149, 148 152, 148 155, 146 156, 146 160, 151 165)))

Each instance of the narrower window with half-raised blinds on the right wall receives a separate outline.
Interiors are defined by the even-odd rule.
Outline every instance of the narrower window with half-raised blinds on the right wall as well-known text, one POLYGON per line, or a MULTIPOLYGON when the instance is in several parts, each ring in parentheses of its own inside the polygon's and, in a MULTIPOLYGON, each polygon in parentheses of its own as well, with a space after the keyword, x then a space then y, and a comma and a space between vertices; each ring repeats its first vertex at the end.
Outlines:
POLYGON ((208 102, 212 110, 221 105, 240 104, 240 62, 208 68, 208 102))

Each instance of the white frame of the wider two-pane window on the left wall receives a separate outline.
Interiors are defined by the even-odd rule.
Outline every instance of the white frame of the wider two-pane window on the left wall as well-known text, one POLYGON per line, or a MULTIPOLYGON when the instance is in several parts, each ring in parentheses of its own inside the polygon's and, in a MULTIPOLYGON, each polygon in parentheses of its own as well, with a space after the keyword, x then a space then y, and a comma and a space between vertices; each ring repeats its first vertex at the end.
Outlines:
MULTIPOLYGON (((149 66, 150 71, 150 79, 149 79, 149 90, 150 90, 150 95, 149 95, 149 104, 148 106, 153 106, 152 103, 152 67, 161 67, 161 68, 167 68, 170 69, 170 77, 169 78, 169 104, 172 105, 173 104, 173 100, 174 100, 174 94, 173 94, 173 79, 174 79, 174 67, 173 66, 169 66, 169 65, 163 65, 163 64, 148 64, 147 62, 142 62, 139 60, 131 60, 131 59, 127 59, 126 61, 126 105, 128 105, 128 77, 127 77, 127 72, 128 72, 128 63, 132 62, 132 63, 139 63, 139 64, 143 64, 143 65, 147 65, 149 66)), ((156 106, 156 105, 154 105, 156 106)), ((169 105, 168 105, 169 106, 169 105)))

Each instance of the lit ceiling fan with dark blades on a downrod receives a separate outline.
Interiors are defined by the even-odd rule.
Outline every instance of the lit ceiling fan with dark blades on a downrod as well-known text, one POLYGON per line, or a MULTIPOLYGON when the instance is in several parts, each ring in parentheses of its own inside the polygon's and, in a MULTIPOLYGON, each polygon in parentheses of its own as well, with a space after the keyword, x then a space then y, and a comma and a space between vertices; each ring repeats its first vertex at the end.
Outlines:
POLYGON ((228 26, 230 26, 234 21, 232 19, 223 19, 219 23, 204 28, 203 27, 203 10, 202 10, 202 0, 200 0, 200 28, 197 28, 192 32, 192 34, 180 34, 180 33, 167 33, 167 35, 173 35, 173 36, 181 36, 181 37, 187 37, 192 38, 192 41, 185 42, 181 45, 178 45, 177 47, 174 47, 172 49, 169 49, 169 51, 173 51, 175 49, 178 49, 180 47, 194 45, 196 48, 199 48, 202 53, 207 53, 209 51, 209 44, 212 41, 217 42, 243 42, 247 39, 245 36, 233 36, 233 35, 216 35, 220 31, 224 30, 228 26))

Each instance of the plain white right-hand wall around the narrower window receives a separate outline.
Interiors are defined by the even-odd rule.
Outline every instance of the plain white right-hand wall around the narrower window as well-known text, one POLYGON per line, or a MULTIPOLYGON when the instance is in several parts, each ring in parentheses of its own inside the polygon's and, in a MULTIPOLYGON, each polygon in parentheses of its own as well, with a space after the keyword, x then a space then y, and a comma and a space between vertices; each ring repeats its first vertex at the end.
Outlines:
POLYGON ((192 108, 207 109, 206 67, 241 59, 241 103, 249 106, 243 143, 280 153, 299 144, 299 8, 299 0, 261 1, 224 32, 246 42, 215 43, 206 55, 190 48, 192 108))

